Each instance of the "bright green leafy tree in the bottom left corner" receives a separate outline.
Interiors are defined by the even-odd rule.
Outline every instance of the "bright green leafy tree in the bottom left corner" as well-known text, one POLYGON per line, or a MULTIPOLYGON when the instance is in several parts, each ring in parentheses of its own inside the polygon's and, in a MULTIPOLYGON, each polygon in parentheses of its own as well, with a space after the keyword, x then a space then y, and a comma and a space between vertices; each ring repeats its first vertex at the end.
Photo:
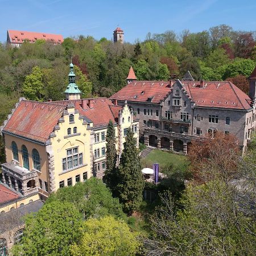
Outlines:
POLYGON ((25 219, 23 237, 13 255, 69 255, 81 236, 82 218, 75 205, 55 201, 25 219))

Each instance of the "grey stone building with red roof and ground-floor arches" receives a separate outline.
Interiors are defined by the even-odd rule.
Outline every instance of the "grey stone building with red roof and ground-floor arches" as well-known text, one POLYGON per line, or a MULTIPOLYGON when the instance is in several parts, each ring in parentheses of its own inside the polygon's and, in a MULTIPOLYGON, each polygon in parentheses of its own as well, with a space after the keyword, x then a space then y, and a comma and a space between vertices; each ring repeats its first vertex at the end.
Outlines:
POLYGON ((130 68, 127 85, 110 99, 134 109, 144 143, 183 151, 192 140, 216 131, 232 133, 246 150, 255 131, 256 68, 249 96, 229 81, 194 81, 191 73, 170 81, 137 81, 130 68))

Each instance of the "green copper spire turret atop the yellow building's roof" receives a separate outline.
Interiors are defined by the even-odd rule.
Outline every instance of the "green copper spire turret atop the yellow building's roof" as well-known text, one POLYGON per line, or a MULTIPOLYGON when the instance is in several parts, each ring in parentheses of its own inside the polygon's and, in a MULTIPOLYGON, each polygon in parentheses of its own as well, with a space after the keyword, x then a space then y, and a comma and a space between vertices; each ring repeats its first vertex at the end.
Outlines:
POLYGON ((68 86, 65 90, 66 100, 80 100, 81 91, 76 85, 76 75, 74 72, 74 65, 71 62, 69 65, 69 74, 68 74, 68 86))

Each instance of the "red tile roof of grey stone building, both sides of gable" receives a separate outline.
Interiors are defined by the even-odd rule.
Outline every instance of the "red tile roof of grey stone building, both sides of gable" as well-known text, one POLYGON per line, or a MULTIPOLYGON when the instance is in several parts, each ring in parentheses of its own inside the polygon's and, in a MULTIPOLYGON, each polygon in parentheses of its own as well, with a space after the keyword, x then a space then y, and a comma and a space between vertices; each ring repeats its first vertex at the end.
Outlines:
MULTIPOLYGON (((196 106, 242 110, 251 108, 250 97, 232 82, 204 81, 203 87, 200 87, 200 81, 182 81, 181 83, 196 106)), ((166 81, 133 81, 110 99, 145 102, 153 97, 152 103, 160 103, 171 90, 170 82, 166 81)))

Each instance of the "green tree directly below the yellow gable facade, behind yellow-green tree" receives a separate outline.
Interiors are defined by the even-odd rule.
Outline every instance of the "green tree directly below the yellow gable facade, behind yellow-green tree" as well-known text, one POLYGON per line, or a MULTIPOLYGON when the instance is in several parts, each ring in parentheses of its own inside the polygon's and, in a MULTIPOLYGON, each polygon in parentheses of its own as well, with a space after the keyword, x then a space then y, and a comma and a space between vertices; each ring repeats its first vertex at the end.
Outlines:
POLYGON ((107 215, 114 218, 126 218, 118 199, 114 199, 102 180, 96 177, 84 183, 77 183, 73 187, 59 189, 48 198, 46 203, 55 201, 72 203, 82 213, 84 219, 107 215))

